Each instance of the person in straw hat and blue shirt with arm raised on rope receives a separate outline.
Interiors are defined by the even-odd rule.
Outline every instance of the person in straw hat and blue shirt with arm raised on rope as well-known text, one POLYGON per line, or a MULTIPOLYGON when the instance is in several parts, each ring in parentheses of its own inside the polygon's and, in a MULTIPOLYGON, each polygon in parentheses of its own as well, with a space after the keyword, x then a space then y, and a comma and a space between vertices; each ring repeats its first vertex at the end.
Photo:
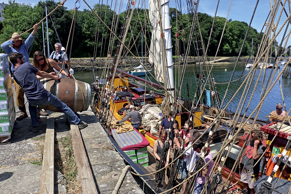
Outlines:
MULTIPOLYGON (((29 56, 28 56, 28 48, 32 45, 33 39, 36 34, 36 30, 38 28, 38 24, 33 25, 33 31, 29 35, 29 37, 24 41, 20 36, 18 32, 13 33, 11 38, 7 40, 6 42, 3 42, 1 45, 1 48, 8 54, 11 55, 12 53, 21 53, 24 58, 24 62, 29 62, 29 56)), ((15 67, 12 64, 11 66, 11 72, 14 73, 15 67)), ((24 104, 24 92, 22 88, 15 82, 15 92, 16 92, 16 105, 19 108, 20 116, 16 118, 16 120, 21 121, 24 118, 27 118, 28 115, 26 113, 26 108, 24 104)), ((44 115, 45 113, 42 112, 41 115, 44 115), (42 114, 43 113, 43 114, 42 114)), ((47 114, 47 113, 46 113, 47 114)))

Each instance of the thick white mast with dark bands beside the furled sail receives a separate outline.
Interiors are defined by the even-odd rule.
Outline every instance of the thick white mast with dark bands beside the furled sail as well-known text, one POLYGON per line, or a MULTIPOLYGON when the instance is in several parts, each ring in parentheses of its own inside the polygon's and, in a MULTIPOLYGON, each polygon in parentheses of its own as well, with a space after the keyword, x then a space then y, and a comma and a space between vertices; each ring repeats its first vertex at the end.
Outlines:
MULTIPOLYGON (((172 41, 171 41, 171 22, 170 22, 170 5, 169 0, 161 0, 161 11, 162 11, 162 24, 163 33, 165 40, 166 49, 166 61, 168 65, 168 75, 165 76, 165 81, 167 84, 167 90, 172 95, 169 102, 173 104, 175 100, 175 89, 174 89, 174 76, 173 76, 173 54, 172 54, 172 41)), ((167 72, 164 72, 167 74, 167 72)))

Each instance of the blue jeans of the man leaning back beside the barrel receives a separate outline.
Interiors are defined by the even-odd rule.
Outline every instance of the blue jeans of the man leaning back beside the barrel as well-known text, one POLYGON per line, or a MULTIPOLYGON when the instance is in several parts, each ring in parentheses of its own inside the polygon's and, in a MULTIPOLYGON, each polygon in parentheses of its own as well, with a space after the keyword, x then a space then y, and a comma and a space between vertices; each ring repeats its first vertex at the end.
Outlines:
POLYGON ((36 117, 36 106, 41 106, 41 105, 52 105, 58 108, 75 125, 79 124, 79 122, 81 121, 77 117, 77 115, 65 103, 63 103, 56 96, 50 94, 46 99, 29 102, 28 109, 29 109, 29 114, 31 117, 31 127, 38 126, 37 117, 36 117))

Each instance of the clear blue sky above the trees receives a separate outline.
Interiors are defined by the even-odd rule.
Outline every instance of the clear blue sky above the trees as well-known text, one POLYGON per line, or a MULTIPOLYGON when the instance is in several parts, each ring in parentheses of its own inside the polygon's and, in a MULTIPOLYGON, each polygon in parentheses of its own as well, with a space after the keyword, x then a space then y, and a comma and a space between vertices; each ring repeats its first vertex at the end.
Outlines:
MULTIPOLYGON (((68 9, 72 9, 72 8, 74 8, 75 1, 76 0, 67 0, 65 2, 64 6, 67 7, 68 9)), ((114 1, 115 0, 113 0, 113 6, 114 6, 114 1)), ((31 3, 31 1, 29 1, 29 0, 16 0, 16 2, 17 3, 31 3)), ((35 3, 31 3, 31 5, 34 6, 34 5, 36 5, 37 2, 38 1, 35 1, 35 3)), ((93 8, 95 3, 99 3, 99 2, 103 2, 103 4, 108 2, 108 4, 111 4, 111 1, 108 1, 108 0, 106 0, 106 1, 105 0, 103 0, 103 1, 86 0, 86 2, 92 8, 93 8)), ((123 1, 123 10, 125 10, 127 2, 128 1, 123 1)), ((136 2, 138 2, 138 0, 136 0, 136 2)), ((183 2, 185 3, 186 1, 183 0, 182 3, 183 2)), ((4 3, 8 3, 8 0, 4 0, 4 3)), ((218 11, 217 11, 217 16, 227 17, 229 4, 230 4, 230 0, 220 0, 218 11)), ((232 2, 232 5, 231 5, 228 19, 244 21, 244 22, 249 24, 253 10, 255 8, 255 4, 256 4, 255 0, 240 0, 240 1, 234 0, 232 2)), ((118 3, 118 6, 119 6, 119 3, 118 3)), ((148 0, 146 0, 145 6, 146 6, 146 8, 148 8, 148 0)), ((186 4, 182 5, 182 9, 183 9, 183 6, 185 8, 187 8, 186 4)), ((207 13, 210 16, 214 16, 216 6, 217 6, 217 0, 200 0, 198 12, 207 13)), ((141 7, 141 6, 139 6, 139 7, 141 7)), ((175 7, 175 1, 170 1, 170 7, 175 7)), ((89 9, 89 8, 84 3, 84 1, 81 0, 79 10, 83 10, 83 9, 89 9)), ((111 9, 113 9, 113 8, 111 8, 111 9)), ((280 7, 280 9, 281 9, 281 7, 280 7)), ((256 10, 254 18, 253 18, 253 22, 251 24, 251 26, 253 28, 255 28, 258 32, 261 31, 262 26, 263 26, 263 24, 266 20, 266 17, 269 13, 269 10, 270 10, 269 1, 267 1, 267 0, 259 1, 257 10, 256 10)), ((288 10, 288 8, 287 8, 287 10, 288 10)), ((284 13, 282 16, 285 20, 286 16, 284 13)), ((280 38, 280 35, 279 35, 279 38, 280 38)), ((277 41, 278 41, 278 38, 277 38, 277 41)), ((291 44, 291 41, 290 41, 290 44, 291 44)))

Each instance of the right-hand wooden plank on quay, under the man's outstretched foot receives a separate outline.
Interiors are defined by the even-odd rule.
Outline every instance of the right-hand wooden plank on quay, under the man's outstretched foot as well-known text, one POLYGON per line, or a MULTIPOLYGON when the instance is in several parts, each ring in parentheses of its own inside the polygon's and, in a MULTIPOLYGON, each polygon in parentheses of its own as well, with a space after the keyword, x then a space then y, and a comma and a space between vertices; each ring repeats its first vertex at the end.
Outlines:
POLYGON ((78 125, 71 124, 72 144, 83 193, 97 194, 97 188, 78 125))

